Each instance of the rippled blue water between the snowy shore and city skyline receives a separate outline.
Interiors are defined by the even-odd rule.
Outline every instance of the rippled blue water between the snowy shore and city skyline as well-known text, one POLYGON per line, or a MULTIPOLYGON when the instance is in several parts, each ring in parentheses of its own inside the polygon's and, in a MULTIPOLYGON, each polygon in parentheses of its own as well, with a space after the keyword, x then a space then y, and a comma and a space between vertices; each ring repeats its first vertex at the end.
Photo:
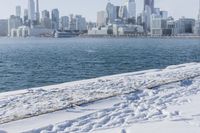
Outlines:
POLYGON ((0 38, 0 92, 188 62, 198 39, 0 38))

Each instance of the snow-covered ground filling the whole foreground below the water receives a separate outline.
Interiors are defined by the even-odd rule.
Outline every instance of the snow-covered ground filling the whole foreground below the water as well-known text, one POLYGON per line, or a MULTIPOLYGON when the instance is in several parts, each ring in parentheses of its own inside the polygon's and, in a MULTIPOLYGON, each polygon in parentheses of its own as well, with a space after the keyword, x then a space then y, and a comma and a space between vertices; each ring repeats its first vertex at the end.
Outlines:
POLYGON ((199 133, 199 101, 200 64, 182 64, 2 93, 0 130, 199 133))

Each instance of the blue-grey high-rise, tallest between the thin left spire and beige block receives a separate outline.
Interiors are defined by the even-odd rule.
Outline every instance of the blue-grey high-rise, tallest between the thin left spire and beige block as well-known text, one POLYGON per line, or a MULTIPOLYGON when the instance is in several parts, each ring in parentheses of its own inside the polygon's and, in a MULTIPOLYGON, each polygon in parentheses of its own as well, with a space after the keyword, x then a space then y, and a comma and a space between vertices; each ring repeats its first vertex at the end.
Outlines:
POLYGON ((59 28, 59 11, 53 9, 51 12, 52 29, 57 30, 59 28))

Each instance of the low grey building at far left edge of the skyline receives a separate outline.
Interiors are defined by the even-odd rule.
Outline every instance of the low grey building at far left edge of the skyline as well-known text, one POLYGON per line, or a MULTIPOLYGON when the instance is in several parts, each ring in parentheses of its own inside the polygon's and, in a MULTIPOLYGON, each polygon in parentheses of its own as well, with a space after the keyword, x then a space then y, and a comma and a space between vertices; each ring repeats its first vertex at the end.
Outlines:
POLYGON ((0 19, 0 36, 8 35, 8 20, 0 19))

